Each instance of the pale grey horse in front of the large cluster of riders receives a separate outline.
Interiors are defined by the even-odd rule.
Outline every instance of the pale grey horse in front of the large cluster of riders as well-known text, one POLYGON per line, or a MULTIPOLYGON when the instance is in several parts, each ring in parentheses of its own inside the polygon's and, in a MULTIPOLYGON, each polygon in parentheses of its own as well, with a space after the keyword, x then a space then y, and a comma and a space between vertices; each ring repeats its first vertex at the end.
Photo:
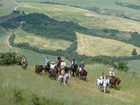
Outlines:
POLYGON ((64 76, 63 75, 59 75, 58 81, 61 84, 64 84, 65 86, 67 86, 69 78, 70 78, 70 73, 66 73, 64 76))

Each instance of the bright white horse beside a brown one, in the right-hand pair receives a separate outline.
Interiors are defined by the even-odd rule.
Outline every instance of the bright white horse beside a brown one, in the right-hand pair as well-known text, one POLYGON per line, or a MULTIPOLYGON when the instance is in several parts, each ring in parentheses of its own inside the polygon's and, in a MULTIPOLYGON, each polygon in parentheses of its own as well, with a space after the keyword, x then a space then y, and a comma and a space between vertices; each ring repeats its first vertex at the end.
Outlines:
POLYGON ((109 79, 97 79, 96 86, 103 90, 105 93, 107 92, 107 86, 109 85, 109 79))

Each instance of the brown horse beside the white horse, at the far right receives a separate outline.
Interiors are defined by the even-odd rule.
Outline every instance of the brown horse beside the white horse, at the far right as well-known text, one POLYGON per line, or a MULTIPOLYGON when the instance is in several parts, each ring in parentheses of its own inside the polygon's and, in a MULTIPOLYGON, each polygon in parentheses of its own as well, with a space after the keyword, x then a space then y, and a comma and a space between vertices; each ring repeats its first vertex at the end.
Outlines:
POLYGON ((109 78, 109 80, 110 80, 111 87, 119 86, 119 84, 121 82, 121 80, 118 77, 107 76, 107 78, 109 78))

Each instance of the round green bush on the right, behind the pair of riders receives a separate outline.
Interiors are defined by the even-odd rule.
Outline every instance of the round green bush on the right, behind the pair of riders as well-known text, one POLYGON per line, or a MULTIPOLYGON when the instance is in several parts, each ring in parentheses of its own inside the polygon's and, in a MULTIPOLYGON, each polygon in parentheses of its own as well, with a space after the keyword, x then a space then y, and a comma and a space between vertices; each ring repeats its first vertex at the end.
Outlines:
POLYGON ((117 68, 118 70, 127 72, 129 70, 129 67, 127 64, 128 64, 127 62, 121 60, 121 61, 118 61, 117 64, 114 65, 114 67, 117 68))

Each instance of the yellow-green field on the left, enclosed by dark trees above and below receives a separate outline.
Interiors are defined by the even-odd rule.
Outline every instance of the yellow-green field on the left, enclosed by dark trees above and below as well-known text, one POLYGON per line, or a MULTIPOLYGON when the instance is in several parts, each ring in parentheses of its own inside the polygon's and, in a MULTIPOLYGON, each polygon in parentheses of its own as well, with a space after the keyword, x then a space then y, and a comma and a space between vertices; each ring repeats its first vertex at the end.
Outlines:
POLYGON ((72 42, 58 39, 46 39, 45 37, 36 36, 31 33, 27 33, 22 29, 14 30, 16 33, 15 43, 29 43, 31 46, 38 47, 40 49, 50 49, 57 50, 62 49, 66 50, 72 42))

